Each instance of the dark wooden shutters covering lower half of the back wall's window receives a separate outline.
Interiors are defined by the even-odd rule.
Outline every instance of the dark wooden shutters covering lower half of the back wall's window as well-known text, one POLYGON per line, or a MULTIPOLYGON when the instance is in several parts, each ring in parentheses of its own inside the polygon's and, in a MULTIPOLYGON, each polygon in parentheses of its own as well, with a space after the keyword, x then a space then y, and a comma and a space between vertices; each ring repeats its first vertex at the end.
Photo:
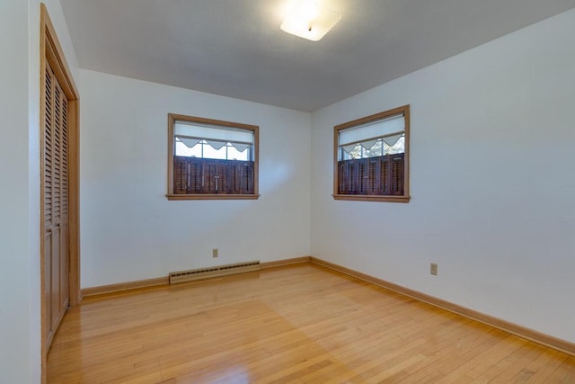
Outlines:
POLYGON ((173 156, 174 194, 252 194, 252 161, 173 156))

